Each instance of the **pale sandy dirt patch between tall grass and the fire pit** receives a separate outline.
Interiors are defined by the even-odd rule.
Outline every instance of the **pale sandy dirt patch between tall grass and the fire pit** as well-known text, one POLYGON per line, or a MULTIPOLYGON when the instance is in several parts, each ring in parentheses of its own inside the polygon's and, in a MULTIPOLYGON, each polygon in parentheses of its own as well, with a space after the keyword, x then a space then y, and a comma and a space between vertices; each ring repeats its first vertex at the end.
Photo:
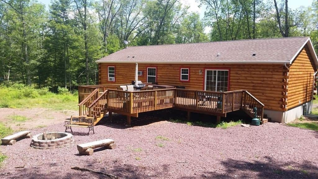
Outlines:
POLYGON ((66 118, 70 118, 71 115, 78 115, 78 111, 53 111, 46 108, 0 108, 0 121, 3 122, 5 125, 10 126, 14 131, 34 129, 38 127, 59 124, 61 122, 64 122, 66 118), (9 116, 11 115, 25 116, 29 119, 23 122, 12 121, 11 119, 9 119, 9 116))

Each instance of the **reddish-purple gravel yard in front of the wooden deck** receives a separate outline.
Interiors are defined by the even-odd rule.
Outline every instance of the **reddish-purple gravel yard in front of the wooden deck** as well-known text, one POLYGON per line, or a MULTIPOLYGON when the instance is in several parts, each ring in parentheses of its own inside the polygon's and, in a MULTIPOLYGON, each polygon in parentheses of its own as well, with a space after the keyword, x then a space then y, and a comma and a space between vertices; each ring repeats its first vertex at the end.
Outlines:
MULTIPOLYGON (((318 132, 278 123, 221 129, 161 121, 125 128, 122 119, 115 116, 88 136, 86 128, 74 128, 70 147, 33 149, 31 139, 1 146, 8 158, 0 178, 106 178, 72 166, 131 179, 318 178, 318 132), (156 139, 159 135, 169 140, 156 139), (117 148, 78 155, 77 144, 104 138, 114 139, 117 148)), ((32 133, 64 129, 59 123, 32 133)))

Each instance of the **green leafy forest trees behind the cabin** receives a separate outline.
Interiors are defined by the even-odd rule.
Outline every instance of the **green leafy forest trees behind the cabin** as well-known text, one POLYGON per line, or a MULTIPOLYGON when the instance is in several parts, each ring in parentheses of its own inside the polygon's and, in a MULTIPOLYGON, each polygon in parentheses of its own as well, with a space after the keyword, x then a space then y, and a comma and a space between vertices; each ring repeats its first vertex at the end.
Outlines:
POLYGON ((97 84, 95 60, 129 45, 310 36, 318 49, 318 1, 0 0, 0 82, 38 87, 97 84), (207 29, 211 29, 207 32, 207 29))

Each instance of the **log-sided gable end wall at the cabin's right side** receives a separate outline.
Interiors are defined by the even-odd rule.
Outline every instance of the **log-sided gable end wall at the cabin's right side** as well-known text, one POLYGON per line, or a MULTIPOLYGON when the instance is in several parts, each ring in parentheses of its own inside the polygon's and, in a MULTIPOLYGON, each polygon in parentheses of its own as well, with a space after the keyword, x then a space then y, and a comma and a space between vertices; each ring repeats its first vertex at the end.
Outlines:
POLYGON ((287 109, 312 100, 315 70, 313 58, 305 46, 289 67, 287 109))

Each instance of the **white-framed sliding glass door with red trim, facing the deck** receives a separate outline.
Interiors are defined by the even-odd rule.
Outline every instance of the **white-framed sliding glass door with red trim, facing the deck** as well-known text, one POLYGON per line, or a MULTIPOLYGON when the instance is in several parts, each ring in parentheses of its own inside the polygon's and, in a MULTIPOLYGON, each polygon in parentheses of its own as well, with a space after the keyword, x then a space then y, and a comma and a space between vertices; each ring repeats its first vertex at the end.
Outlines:
POLYGON ((229 70, 207 69, 205 70, 205 90, 207 91, 228 91, 229 70))

